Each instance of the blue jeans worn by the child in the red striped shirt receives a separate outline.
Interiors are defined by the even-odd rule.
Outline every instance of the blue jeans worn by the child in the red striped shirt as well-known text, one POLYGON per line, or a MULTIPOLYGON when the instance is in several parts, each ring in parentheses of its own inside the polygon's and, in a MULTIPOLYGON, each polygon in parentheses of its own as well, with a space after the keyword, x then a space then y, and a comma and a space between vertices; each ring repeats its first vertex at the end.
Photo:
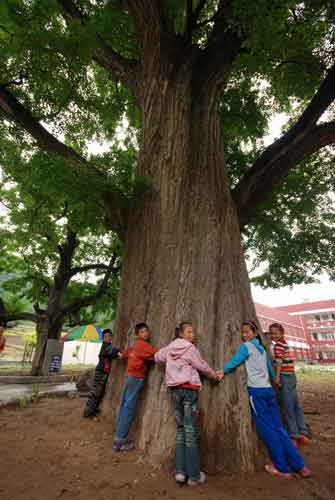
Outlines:
POLYGON ((300 434, 308 435, 305 417, 299 406, 297 392, 297 378, 291 375, 280 375, 280 401, 283 409, 285 427, 291 438, 298 438, 300 434))

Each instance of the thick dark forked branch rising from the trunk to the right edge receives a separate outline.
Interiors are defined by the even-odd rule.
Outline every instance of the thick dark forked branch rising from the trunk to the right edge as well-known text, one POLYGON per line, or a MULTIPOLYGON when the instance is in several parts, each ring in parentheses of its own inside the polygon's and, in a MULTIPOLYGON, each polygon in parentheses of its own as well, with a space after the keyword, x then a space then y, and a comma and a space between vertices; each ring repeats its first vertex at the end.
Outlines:
POLYGON ((297 123, 271 144, 242 177, 233 191, 243 227, 290 170, 320 148, 334 144, 334 123, 316 125, 335 100, 335 64, 297 123))

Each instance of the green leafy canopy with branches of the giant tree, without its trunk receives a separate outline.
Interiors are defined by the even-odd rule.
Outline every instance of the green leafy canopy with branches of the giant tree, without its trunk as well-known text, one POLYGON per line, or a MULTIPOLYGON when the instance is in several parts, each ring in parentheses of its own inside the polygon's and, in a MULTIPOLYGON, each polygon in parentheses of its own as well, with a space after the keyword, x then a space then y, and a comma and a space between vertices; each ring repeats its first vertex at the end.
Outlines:
POLYGON ((332 1, 4 0, 0 19, 0 163, 32 197, 43 178, 50 198, 74 200, 80 225, 107 219, 122 237, 120 207, 152 189, 137 176, 137 78, 159 31, 167 60, 173 53, 227 80, 220 113, 231 189, 246 254, 268 263, 257 282, 334 277, 332 1), (278 112, 289 122, 267 146, 278 112))

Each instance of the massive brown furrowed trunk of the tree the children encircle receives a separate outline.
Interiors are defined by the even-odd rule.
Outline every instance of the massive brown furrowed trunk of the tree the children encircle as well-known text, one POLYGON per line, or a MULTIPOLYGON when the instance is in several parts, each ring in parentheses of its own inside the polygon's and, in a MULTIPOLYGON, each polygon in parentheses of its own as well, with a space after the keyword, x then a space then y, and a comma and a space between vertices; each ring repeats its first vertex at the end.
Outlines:
MULTIPOLYGON (((192 99, 191 87, 188 75, 180 74, 143 101, 139 174, 153 180, 153 190, 128 220, 116 342, 125 347, 131 325, 147 321, 153 345, 162 347, 176 324, 189 320, 204 358, 222 369, 240 342, 241 321, 254 319, 255 311, 216 99, 192 99)), ((113 418, 123 378, 124 370, 115 369, 108 393, 113 418)), ((219 386, 205 383, 200 401, 207 469, 254 470, 258 447, 244 368, 219 386)), ((162 368, 149 375, 135 435, 152 462, 173 456, 175 423, 162 368)))

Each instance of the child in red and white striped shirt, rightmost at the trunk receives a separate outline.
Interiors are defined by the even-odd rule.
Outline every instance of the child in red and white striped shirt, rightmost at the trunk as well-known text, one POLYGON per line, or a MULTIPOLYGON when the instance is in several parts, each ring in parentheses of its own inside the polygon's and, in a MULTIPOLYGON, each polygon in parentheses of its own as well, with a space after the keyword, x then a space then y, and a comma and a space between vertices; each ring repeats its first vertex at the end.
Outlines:
POLYGON ((281 408, 287 432, 295 446, 309 444, 305 417, 299 405, 294 357, 285 340, 285 330, 280 323, 270 325, 274 345, 275 384, 279 388, 281 408))

